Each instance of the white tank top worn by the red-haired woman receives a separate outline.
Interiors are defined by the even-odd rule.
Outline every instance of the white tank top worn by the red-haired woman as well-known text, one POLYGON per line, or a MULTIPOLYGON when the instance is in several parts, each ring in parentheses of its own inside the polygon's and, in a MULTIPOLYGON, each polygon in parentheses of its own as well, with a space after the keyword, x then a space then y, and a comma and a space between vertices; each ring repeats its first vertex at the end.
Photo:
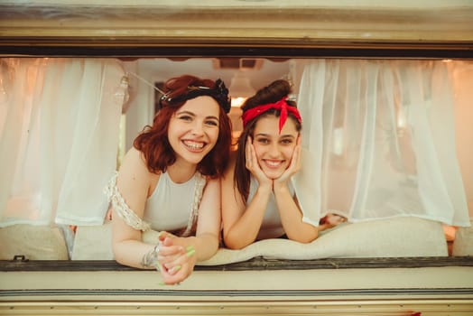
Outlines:
POLYGON ((156 188, 146 200, 144 220, 154 230, 173 231, 187 227, 196 176, 184 183, 175 183, 167 172, 160 175, 156 188))

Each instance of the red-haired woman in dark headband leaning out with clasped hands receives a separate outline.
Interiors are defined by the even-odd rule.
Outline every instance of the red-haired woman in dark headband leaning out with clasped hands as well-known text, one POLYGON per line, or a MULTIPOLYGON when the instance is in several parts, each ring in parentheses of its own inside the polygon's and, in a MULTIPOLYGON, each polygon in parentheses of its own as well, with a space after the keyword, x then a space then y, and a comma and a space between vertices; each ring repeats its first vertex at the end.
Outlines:
POLYGON ((164 283, 174 284, 217 252, 229 109, 219 79, 185 75, 166 82, 153 125, 136 137, 108 186, 118 263, 158 269, 164 283), (161 232, 157 245, 142 241, 151 228, 161 232))

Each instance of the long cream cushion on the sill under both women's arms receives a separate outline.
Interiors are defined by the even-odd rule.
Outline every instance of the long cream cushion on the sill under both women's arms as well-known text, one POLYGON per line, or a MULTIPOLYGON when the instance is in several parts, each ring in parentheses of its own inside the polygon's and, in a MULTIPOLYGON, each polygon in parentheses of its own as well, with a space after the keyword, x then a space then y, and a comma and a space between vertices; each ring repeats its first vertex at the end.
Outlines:
MULTIPOLYGON (((112 260, 111 235, 109 223, 78 228, 72 259, 112 260)), ((158 232, 146 232, 144 242, 156 244, 158 232)), ((422 218, 389 218, 341 224, 309 244, 278 238, 257 241, 241 250, 221 248, 198 265, 225 265, 255 256, 288 260, 448 256, 448 249, 441 223, 422 218)))

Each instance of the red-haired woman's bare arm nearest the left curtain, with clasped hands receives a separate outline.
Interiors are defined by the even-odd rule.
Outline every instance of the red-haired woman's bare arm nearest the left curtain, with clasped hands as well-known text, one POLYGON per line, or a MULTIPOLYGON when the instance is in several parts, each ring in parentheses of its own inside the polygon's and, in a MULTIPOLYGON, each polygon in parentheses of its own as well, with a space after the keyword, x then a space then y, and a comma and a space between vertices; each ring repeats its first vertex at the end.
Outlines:
MULTIPOLYGON (((131 149, 126 153, 116 185, 127 206, 139 218, 144 217, 151 183, 157 181, 157 177, 148 172, 140 152, 131 149)), ((118 263, 141 269, 158 267, 164 283, 168 284, 179 283, 190 275, 196 260, 191 237, 182 238, 185 242, 178 242, 177 237, 164 234, 158 246, 160 250, 156 251, 156 245, 145 244, 142 232, 130 227, 118 214, 114 215, 112 223, 113 251, 118 263)))

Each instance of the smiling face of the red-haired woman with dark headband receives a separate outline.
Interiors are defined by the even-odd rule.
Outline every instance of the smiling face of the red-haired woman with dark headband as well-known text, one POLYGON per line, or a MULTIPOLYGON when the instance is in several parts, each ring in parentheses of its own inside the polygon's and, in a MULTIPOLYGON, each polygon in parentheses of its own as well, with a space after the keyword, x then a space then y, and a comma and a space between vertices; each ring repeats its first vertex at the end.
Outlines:
POLYGON ((176 163, 198 164, 217 144, 219 106, 207 96, 191 98, 171 117, 168 139, 176 163))

